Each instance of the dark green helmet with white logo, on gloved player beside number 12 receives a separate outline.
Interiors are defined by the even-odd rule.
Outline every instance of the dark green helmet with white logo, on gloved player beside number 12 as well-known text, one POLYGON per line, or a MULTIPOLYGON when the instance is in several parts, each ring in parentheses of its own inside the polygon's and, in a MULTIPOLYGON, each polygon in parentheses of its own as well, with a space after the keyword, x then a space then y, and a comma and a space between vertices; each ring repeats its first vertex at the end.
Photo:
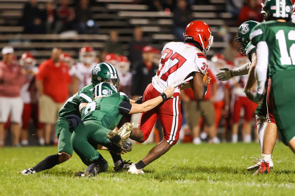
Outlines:
POLYGON ((250 42, 250 32, 251 29, 254 28, 256 25, 260 24, 256 21, 246 21, 242 25, 239 26, 236 36, 236 42, 240 42, 241 44, 238 46, 238 52, 246 56, 245 48, 250 42))

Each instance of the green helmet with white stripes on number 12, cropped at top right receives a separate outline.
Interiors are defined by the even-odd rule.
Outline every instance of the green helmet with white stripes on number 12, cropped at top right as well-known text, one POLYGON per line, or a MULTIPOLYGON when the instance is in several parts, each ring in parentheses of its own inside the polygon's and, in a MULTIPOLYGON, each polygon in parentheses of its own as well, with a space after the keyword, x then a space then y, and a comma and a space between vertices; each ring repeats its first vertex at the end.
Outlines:
POLYGON ((264 14, 265 21, 276 19, 289 21, 293 13, 293 3, 291 0, 265 0, 261 13, 264 14))

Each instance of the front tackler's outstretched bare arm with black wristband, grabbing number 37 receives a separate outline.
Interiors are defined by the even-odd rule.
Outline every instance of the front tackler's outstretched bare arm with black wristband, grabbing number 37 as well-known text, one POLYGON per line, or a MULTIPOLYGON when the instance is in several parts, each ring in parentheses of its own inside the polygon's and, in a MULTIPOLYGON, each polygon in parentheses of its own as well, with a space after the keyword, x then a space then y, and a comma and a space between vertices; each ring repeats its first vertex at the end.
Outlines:
POLYGON ((160 96, 157 96, 154 99, 148 100, 144 102, 143 104, 130 104, 126 101, 123 101, 120 104, 120 111, 122 113, 127 113, 127 114, 136 114, 136 113, 141 113, 145 111, 149 111, 162 103, 163 101, 166 101, 167 99, 171 98, 174 94, 175 88, 171 88, 169 86, 167 89, 165 89, 164 93, 162 93, 160 96))

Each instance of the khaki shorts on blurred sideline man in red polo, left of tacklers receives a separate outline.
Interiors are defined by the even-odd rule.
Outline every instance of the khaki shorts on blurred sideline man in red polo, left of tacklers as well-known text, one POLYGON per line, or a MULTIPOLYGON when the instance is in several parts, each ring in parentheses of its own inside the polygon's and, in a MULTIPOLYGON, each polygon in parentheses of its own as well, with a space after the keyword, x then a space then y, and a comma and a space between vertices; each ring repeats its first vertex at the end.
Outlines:
POLYGON ((56 123, 62 106, 63 103, 56 103, 51 97, 42 95, 39 98, 39 121, 45 124, 56 123))

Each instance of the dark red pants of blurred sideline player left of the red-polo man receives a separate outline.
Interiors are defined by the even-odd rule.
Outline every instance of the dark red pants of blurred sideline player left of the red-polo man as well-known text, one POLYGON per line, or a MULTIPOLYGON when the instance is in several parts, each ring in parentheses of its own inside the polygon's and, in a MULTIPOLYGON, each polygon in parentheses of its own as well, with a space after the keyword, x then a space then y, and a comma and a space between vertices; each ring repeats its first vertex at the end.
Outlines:
POLYGON ((34 126, 38 129, 43 128, 43 123, 38 122, 38 104, 24 104, 22 112, 22 128, 29 129, 30 118, 33 119, 34 126))

